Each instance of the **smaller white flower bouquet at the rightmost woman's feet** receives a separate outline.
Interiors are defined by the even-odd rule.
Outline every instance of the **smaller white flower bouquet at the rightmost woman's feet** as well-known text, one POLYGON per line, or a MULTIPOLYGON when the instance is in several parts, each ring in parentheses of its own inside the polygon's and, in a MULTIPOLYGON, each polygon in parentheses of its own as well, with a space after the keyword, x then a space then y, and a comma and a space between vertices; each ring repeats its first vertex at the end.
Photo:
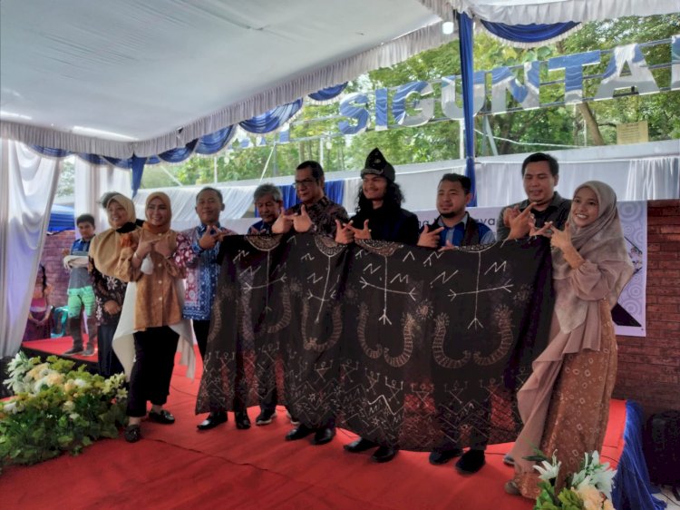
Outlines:
POLYGON ((557 456, 553 453, 549 459, 539 451, 537 456, 527 458, 540 462, 534 466, 539 472, 541 489, 534 510, 615 510, 611 503, 611 485, 617 472, 609 468, 608 462, 600 464, 597 451, 586 454, 580 471, 567 477, 559 494, 555 492, 555 484, 562 463, 557 456))

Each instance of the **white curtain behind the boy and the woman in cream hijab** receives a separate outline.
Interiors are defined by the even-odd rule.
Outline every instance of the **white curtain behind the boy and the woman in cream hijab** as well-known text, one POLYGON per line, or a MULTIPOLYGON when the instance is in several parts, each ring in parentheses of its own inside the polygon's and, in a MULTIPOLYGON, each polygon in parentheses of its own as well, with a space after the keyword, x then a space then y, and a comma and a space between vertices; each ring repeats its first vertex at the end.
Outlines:
POLYGON ((94 216, 96 231, 109 228, 106 212, 99 199, 107 191, 118 191, 130 196, 130 171, 113 165, 95 165, 81 158, 75 158, 75 217, 89 213, 94 216))

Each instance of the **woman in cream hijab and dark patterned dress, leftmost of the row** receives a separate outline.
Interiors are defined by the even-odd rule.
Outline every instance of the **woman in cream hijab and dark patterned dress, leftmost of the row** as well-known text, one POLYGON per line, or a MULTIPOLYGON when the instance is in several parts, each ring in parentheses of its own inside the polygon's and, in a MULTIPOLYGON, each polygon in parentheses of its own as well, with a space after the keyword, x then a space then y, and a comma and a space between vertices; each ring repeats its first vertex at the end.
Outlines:
POLYGON ((97 358, 99 373, 105 378, 123 371, 121 361, 113 352, 113 334, 121 319, 122 302, 128 284, 116 278, 115 270, 121 257, 121 237, 139 227, 134 204, 117 192, 102 197, 102 207, 109 219, 109 230, 96 235, 90 243, 90 278, 97 303, 97 358))

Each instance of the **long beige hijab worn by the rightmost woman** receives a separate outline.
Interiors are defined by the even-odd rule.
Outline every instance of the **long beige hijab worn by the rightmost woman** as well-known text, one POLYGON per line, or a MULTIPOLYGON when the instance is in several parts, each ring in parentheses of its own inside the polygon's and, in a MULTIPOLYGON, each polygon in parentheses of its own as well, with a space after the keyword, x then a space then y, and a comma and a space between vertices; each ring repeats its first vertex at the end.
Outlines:
MULTIPOLYGON (((626 240, 624 239, 621 221, 618 219, 617 194, 608 184, 600 181, 584 182, 576 191, 589 188, 597 196, 599 211, 597 220, 579 229, 569 213, 569 227, 571 242, 581 257, 595 264, 604 261, 619 261, 623 263, 623 270, 618 273, 617 280, 609 294, 609 306, 614 307, 621 290, 633 276, 633 263, 628 256, 626 240)), ((566 280, 573 269, 565 260, 561 250, 553 252, 552 278, 566 280)), ((569 286, 559 289, 555 300, 555 312, 559 320, 559 328, 568 333, 578 328, 586 320, 588 302, 578 298, 569 286)))

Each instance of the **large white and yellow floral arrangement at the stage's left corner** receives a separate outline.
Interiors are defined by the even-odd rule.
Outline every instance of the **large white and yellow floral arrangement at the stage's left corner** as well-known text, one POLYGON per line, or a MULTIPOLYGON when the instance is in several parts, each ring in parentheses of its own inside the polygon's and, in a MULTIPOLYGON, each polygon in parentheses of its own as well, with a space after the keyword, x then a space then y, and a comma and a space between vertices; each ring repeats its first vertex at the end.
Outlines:
POLYGON ((5 385, 15 396, 0 401, 0 470, 64 451, 78 455, 100 437, 118 436, 125 420, 124 376, 102 378, 74 365, 22 352, 9 363, 5 385))

